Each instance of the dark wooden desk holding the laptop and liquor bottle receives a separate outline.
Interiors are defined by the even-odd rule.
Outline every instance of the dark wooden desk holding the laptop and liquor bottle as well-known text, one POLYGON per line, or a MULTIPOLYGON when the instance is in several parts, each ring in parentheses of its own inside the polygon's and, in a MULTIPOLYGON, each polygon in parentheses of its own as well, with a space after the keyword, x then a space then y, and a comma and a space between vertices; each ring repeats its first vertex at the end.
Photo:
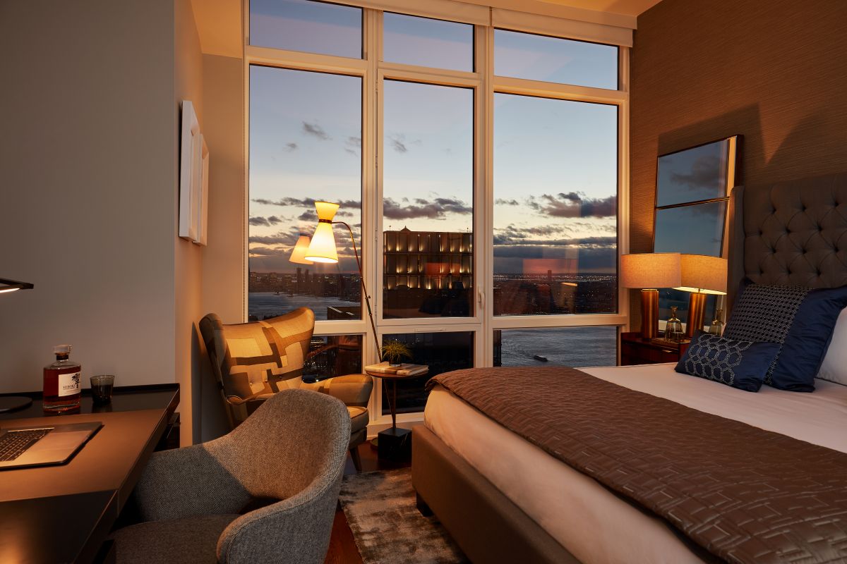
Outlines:
POLYGON ((112 404, 94 408, 96 413, 90 413, 90 398, 80 408, 89 413, 44 416, 38 413, 40 400, 17 413, 3 413, 0 427, 103 424, 64 466, 0 471, 3 561, 109 561, 109 545, 103 541, 179 402, 175 384, 145 387, 151 388, 149 393, 116 389, 112 404))

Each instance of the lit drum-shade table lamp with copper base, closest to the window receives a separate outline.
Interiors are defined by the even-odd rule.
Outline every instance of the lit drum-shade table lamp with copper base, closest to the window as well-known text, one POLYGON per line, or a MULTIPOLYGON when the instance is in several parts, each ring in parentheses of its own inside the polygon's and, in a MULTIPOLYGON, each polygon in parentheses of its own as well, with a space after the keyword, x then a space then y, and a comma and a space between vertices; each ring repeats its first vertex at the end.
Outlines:
POLYGON ((682 285, 679 253, 621 256, 621 285, 641 289, 641 338, 659 336, 660 287, 682 285))

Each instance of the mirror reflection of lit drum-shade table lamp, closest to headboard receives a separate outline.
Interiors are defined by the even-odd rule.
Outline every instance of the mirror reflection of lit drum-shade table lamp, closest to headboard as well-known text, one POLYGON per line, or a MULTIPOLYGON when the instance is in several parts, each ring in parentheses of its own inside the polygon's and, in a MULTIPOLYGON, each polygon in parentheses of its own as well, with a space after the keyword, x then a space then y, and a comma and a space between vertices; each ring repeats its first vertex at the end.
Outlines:
POLYGON ((706 297, 709 294, 727 293, 727 260, 719 256, 681 255, 682 282, 675 290, 690 292, 688 323, 685 337, 694 337, 695 331, 703 328, 706 314, 706 297))

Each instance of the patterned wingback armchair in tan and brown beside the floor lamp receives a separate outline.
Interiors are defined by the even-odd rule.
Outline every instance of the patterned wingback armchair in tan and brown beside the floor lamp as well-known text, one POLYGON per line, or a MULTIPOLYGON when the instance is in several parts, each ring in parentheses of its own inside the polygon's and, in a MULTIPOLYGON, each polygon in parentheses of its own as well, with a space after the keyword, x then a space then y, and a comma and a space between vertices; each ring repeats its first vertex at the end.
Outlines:
POLYGON ((232 428, 280 390, 307 388, 324 392, 347 406, 351 419, 349 450, 353 464, 361 471, 356 447, 368 435, 368 399, 374 382, 363 374, 314 383, 302 381, 314 324, 314 313, 307 308, 235 325, 224 325, 218 315, 209 314, 200 321, 200 332, 232 428))

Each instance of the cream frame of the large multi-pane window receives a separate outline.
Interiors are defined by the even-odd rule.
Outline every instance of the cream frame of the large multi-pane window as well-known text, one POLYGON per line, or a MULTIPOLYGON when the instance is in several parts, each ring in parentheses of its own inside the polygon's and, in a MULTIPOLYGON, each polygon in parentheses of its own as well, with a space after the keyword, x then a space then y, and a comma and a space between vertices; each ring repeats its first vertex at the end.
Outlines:
MULTIPOLYGON (((333 3, 344 3, 335 0, 333 3)), ((243 225, 249 225, 249 156, 250 156, 250 68, 260 64, 276 68, 292 68, 331 74, 346 74, 361 77, 363 85, 362 108, 362 266, 366 289, 374 305, 374 320, 381 338, 383 334, 402 332, 437 331, 473 331, 473 364, 488 367, 493 364, 494 331, 508 329, 542 329, 548 327, 571 326, 617 326, 617 331, 628 327, 629 294, 620 287, 617 289, 617 313, 615 314, 569 314, 569 315, 520 315, 495 316, 490 305, 491 290, 494 285, 492 240, 494 225, 494 178, 493 178, 493 132, 494 132, 494 95, 495 92, 522 96, 545 97, 567 101, 594 102, 617 106, 617 266, 620 271, 620 256, 629 250, 629 50, 628 45, 617 44, 618 81, 617 90, 605 90, 587 86, 550 83, 538 80, 515 79, 494 74, 494 30, 515 30, 536 33, 521 29, 520 26, 480 25, 473 23, 474 72, 447 70, 441 68, 420 67, 401 63, 382 61, 382 14, 383 10, 368 8, 363 3, 351 1, 350 5, 363 7, 363 53, 361 59, 335 57, 317 53, 286 51, 270 47, 250 45, 250 2, 244 2, 244 159, 246 162, 244 185, 245 205, 243 225), (473 98, 473 315, 456 318, 412 318, 382 319, 383 301, 383 217, 382 217, 382 158, 383 145, 383 80, 398 79, 408 82, 420 82, 433 85, 446 85, 472 88, 473 98)), ((466 5, 466 4, 465 4, 466 5)), ((418 15, 428 18, 445 19, 470 23, 462 19, 451 19, 449 14, 437 17, 431 14, 419 14, 410 9, 386 8, 398 14, 418 15)), ((529 20, 538 18, 527 14, 529 20)), ((575 41, 594 41, 579 36, 562 36, 575 41)), ((614 41, 609 44, 615 45, 614 41)), ((244 233, 244 262, 242 265, 245 281, 249 277, 249 242, 244 233)), ((247 293, 243 296, 244 319, 247 319, 247 293)), ((361 335, 363 337, 363 365, 376 362, 376 353, 370 334, 366 309, 360 320, 325 320, 315 324, 314 335, 361 335)), ((619 347, 618 347, 619 348, 619 347)), ((617 351, 620 359, 620 351, 617 351)), ((368 404, 370 430, 374 432, 390 425, 390 417, 382 415, 382 382, 374 381, 374 393, 368 404)), ((401 424, 419 422, 422 413, 401 413, 397 421, 401 424)))

